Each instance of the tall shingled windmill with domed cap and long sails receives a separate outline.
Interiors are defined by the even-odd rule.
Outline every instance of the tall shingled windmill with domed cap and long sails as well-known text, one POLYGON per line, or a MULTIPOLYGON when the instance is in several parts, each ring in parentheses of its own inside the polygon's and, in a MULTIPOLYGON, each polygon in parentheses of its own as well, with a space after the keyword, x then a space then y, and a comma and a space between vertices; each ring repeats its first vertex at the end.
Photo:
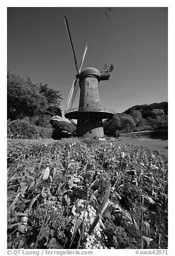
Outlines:
POLYGON ((65 29, 67 30, 72 53, 74 55, 77 72, 75 80, 70 89, 67 104, 65 106, 64 116, 76 126, 77 136, 82 136, 85 138, 103 137, 103 119, 112 118, 115 115, 115 112, 112 109, 101 108, 99 82, 110 79, 110 72, 113 70, 113 65, 111 63, 107 63, 103 72, 100 72, 98 69, 93 67, 81 70, 88 48, 88 42, 86 42, 83 58, 80 66, 78 67, 66 15, 64 24, 65 29), (72 108, 78 89, 80 89, 79 107, 72 108), (77 120, 77 124, 73 119, 77 120))

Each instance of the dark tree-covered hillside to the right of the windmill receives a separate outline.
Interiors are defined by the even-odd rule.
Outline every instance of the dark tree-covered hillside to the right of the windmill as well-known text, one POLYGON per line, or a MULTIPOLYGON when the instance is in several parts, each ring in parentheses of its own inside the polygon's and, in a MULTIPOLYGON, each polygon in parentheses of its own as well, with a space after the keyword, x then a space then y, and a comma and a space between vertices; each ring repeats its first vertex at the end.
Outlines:
POLYGON ((104 122, 104 132, 108 136, 118 136, 125 132, 146 130, 167 130, 168 103, 136 105, 123 113, 116 113, 104 122))

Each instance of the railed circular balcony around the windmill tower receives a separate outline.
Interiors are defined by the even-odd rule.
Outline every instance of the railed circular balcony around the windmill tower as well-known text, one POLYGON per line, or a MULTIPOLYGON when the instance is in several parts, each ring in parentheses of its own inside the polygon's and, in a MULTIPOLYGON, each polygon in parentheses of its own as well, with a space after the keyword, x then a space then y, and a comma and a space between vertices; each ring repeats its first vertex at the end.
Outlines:
POLYGON ((115 111, 113 109, 93 109, 90 106, 84 106, 80 108, 67 109, 64 111, 64 116, 65 118, 77 119, 79 115, 84 115, 85 113, 89 113, 94 116, 98 115, 102 119, 112 118, 115 115, 115 111))

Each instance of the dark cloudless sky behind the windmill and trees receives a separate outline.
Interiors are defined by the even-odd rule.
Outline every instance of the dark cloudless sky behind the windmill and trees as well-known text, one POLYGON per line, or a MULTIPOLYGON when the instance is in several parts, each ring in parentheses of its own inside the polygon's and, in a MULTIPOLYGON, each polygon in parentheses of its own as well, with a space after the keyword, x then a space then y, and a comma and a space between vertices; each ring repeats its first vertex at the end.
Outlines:
POLYGON ((101 106, 122 112, 137 104, 167 101, 166 7, 113 7, 111 20, 102 7, 8 8, 11 73, 60 90, 64 110, 76 75, 64 14, 77 62, 88 41, 83 68, 114 65, 110 81, 99 84, 101 106))

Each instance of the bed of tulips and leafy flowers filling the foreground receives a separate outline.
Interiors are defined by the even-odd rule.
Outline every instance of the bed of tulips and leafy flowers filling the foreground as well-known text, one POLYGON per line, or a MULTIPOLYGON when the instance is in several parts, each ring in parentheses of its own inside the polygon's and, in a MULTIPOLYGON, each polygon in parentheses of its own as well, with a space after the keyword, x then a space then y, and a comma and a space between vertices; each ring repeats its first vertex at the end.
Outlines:
POLYGON ((167 158, 149 148, 10 141, 8 248, 167 248, 167 158))

